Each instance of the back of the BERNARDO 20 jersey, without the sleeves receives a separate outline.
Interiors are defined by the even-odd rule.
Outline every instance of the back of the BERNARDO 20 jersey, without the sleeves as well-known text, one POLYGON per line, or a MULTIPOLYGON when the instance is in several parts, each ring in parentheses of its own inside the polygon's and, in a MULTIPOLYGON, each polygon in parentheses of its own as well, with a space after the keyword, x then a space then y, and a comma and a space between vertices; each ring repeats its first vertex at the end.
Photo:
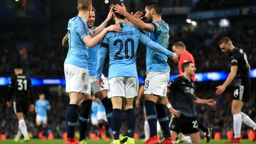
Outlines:
POLYGON ((137 27, 127 23, 117 23, 122 32, 108 32, 103 43, 110 51, 110 68, 108 77, 138 76, 136 59, 141 32, 137 27))

